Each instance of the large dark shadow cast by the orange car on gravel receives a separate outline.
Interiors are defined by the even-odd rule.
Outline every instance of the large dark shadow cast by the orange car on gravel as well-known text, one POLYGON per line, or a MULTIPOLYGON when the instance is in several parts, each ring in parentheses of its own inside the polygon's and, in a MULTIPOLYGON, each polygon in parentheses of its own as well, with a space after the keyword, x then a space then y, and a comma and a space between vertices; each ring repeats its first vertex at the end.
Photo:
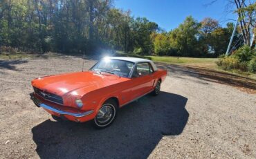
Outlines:
POLYGON ((188 99, 161 92, 124 106, 107 129, 90 122, 46 120, 33 127, 40 158, 147 158, 163 135, 179 135, 188 122, 188 99))

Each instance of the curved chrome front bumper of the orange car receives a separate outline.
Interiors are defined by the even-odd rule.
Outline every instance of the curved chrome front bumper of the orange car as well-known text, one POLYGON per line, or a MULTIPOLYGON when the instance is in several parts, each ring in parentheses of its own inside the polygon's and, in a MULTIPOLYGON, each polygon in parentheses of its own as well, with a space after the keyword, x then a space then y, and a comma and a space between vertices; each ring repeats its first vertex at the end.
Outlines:
POLYGON ((93 113, 93 111, 86 111, 84 113, 70 113, 68 111, 62 111, 60 109, 55 109, 53 108, 52 106, 48 106, 42 102, 40 102, 35 96, 33 93, 30 93, 30 99, 33 100, 33 102, 35 103, 36 106, 38 107, 42 107, 44 109, 47 109, 49 111, 53 111, 55 113, 59 113, 61 115, 71 115, 71 116, 74 116, 74 117, 77 117, 77 118, 80 118, 80 117, 84 117, 86 115, 90 115, 91 113, 93 113))

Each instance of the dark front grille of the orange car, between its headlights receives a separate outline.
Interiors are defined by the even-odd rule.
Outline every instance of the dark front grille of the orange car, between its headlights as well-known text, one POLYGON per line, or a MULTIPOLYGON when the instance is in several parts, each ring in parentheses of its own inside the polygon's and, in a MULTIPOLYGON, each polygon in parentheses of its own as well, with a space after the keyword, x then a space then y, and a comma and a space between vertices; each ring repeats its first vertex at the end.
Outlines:
POLYGON ((48 93, 46 91, 42 91, 41 89, 36 88, 36 87, 33 87, 33 88, 34 88, 35 93, 37 93, 38 95, 43 97, 45 100, 63 105, 62 97, 60 97, 59 95, 55 95, 53 93, 48 93))

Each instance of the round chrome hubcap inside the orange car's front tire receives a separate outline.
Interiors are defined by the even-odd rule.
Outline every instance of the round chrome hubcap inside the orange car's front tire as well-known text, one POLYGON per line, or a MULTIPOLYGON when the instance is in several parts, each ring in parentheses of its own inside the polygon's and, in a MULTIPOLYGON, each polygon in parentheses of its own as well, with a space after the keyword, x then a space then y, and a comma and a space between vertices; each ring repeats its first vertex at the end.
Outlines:
POLYGON ((105 124, 111 120, 113 115, 113 109, 109 105, 102 106, 98 114, 96 115, 96 120, 99 124, 105 124))

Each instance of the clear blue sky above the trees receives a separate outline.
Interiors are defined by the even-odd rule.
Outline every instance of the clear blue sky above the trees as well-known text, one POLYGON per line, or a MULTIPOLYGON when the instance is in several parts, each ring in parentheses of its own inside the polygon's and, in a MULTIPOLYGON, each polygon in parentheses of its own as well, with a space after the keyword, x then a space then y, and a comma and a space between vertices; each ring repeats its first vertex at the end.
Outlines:
POLYGON ((201 21, 204 17, 212 17, 221 26, 227 22, 235 22, 237 15, 233 14, 232 6, 227 6, 227 0, 116 0, 114 6, 122 10, 131 10, 135 17, 147 17, 161 28, 169 31, 181 24, 185 17, 192 15, 201 21))

